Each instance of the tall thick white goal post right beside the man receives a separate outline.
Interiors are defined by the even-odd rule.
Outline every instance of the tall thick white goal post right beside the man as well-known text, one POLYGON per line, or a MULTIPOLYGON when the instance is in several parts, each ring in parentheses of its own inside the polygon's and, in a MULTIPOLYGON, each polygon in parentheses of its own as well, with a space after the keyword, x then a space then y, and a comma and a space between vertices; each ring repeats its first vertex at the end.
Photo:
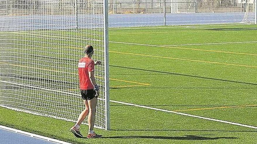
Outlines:
POLYGON ((105 60, 105 130, 110 130, 110 96, 109 96, 109 45, 108 45, 108 0, 103 0, 104 15, 104 60, 105 60))

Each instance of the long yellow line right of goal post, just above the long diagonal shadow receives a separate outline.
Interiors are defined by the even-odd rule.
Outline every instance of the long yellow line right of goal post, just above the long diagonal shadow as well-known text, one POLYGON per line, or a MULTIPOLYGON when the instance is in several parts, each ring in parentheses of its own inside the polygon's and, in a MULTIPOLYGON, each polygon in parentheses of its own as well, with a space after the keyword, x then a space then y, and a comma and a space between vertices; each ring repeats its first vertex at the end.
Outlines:
POLYGON ((195 61, 195 62, 202 62, 202 63, 213 63, 213 64, 235 65, 235 66, 242 66, 242 67, 254 67, 254 68, 257 68, 257 66, 250 66, 250 65, 237 65, 237 64, 231 64, 231 63, 199 61, 199 60, 191 60, 191 59, 183 59, 183 58, 171 58, 171 57, 164 57, 164 56, 152 56, 152 55, 145 55, 145 54, 132 54, 132 53, 124 53, 124 52, 118 52, 118 51, 109 51, 109 52, 113 52, 113 53, 117 53, 117 54, 129 54, 129 55, 136 55, 136 56, 149 56, 149 57, 156 57, 156 58, 168 58, 168 59, 183 60, 183 61, 195 61))

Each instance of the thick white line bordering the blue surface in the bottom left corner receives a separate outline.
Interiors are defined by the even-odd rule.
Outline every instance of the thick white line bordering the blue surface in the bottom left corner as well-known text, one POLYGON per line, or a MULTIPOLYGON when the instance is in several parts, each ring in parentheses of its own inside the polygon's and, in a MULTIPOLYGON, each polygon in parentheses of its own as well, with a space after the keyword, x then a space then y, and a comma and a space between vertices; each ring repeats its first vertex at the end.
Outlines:
MULTIPOLYGON (((7 131, 22 134, 22 135, 25 135, 25 136, 30 136, 30 137, 33 137, 33 138, 41 139, 41 140, 52 142, 52 143, 72 144, 72 143, 67 143, 65 141, 60 141, 60 140, 57 140, 57 139, 48 138, 46 136, 40 136, 40 135, 32 134, 32 133, 29 133, 29 132, 26 132, 26 131, 21 131, 21 130, 13 129, 13 128, 10 128, 10 127, 5 127, 5 126, 2 126, 2 125, 0 125, 0 129, 4 129, 4 130, 7 130, 7 131)), ((29 143, 29 141, 28 141, 28 143, 29 143)))

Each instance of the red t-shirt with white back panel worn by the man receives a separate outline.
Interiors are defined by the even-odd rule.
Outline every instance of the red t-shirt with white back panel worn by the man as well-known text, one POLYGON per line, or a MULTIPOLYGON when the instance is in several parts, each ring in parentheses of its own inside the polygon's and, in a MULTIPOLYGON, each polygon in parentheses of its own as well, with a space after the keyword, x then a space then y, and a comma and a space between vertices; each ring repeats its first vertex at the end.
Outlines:
POLYGON ((89 79, 88 72, 95 70, 95 63, 90 58, 81 58, 79 60, 79 88, 81 90, 91 90, 94 89, 93 84, 89 79))

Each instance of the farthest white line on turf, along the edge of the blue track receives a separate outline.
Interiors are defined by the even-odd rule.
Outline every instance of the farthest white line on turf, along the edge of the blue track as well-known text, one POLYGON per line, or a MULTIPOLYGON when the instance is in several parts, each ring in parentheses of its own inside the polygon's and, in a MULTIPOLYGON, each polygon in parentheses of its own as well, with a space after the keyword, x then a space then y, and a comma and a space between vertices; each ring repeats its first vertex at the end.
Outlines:
MULTIPOLYGON (((251 25, 251 24, 225 24, 225 25, 204 25, 204 26, 241 26, 241 25, 251 25)), ((204 27, 197 26, 197 27, 204 27)), ((195 26, 193 26, 195 27, 195 26)), ((163 28, 190 28, 190 26, 165 26, 165 27, 133 27, 133 28, 109 28, 108 30, 122 30, 122 29, 163 29, 163 28)))

